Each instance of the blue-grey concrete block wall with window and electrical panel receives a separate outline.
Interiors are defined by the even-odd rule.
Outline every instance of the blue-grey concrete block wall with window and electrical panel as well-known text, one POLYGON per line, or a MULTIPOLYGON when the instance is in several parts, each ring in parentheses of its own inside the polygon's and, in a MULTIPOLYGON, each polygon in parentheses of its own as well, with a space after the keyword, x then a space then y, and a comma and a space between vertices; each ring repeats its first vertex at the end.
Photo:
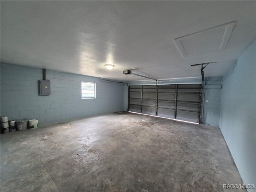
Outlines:
POLYGON ((10 120, 38 119, 39 124, 61 122, 123 110, 124 86, 100 78, 46 70, 51 94, 38 95, 42 68, 1 63, 1 110, 10 120), (81 98, 81 82, 96 83, 96 98, 81 98))

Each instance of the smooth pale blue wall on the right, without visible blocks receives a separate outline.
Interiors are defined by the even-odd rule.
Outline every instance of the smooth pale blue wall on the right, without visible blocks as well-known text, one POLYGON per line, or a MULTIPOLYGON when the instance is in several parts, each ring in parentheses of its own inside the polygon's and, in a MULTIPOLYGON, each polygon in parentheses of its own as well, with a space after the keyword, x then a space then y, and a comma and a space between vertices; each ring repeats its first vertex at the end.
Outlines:
POLYGON ((254 40, 222 81, 219 126, 244 184, 256 184, 255 53, 254 40))

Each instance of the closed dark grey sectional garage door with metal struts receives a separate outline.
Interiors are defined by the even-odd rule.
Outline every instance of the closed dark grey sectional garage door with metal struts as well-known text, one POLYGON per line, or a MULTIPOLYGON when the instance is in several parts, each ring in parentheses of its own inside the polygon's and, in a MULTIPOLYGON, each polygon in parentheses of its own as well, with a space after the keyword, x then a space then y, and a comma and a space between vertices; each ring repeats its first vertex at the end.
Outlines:
POLYGON ((202 84, 129 86, 129 111, 199 122, 201 87, 202 84))

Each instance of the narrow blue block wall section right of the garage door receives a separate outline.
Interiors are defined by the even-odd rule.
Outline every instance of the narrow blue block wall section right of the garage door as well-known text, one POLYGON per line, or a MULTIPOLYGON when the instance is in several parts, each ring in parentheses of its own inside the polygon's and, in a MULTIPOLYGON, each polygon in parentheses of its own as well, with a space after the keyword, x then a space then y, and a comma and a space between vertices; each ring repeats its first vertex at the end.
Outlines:
POLYGON ((207 77, 204 90, 203 124, 218 126, 220 117, 222 77, 207 77), (208 100, 208 102, 206 102, 208 100))

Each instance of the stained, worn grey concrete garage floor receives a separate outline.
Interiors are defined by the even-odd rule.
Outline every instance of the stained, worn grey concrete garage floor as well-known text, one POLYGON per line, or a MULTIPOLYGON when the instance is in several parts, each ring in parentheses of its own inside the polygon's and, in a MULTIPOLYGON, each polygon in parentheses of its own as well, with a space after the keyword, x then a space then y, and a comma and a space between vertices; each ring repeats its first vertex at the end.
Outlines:
POLYGON ((218 127, 117 112, 1 134, 1 192, 222 192, 218 127))

